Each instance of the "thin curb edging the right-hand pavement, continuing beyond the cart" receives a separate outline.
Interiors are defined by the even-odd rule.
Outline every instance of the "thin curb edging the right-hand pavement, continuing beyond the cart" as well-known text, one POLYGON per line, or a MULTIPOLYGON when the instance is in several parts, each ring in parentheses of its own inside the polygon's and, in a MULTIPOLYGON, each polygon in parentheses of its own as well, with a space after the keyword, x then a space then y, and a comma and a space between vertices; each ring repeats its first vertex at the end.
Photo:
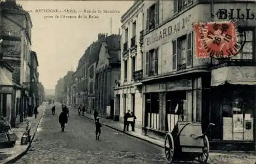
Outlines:
MULTIPOLYGON (((76 112, 76 111, 74 111, 74 110, 72 110, 72 111, 73 111, 73 112, 76 112)), ((78 112, 77 112, 77 113, 78 113, 78 112)), ((86 116, 86 115, 81 115, 81 116, 83 116, 84 118, 87 118, 87 119, 89 119, 89 120, 94 121, 94 119, 90 118, 89 116, 86 116)), ((158 147, 164 148, 164 146, 162 146, 162 145, 159 145, 159 144, 157 144, 157 143, 151 142, 150 140, 141 138, 141 137, 136 136, 136 135, 133 135, 133 134, 131 134, 131 133, 124 132, 124 131, 119 130, 119 129, 117 129, 117 128, 114 128, 114 127, 112 127, 112 126, 110 126, 110 125, 106 125, 106 124, 103 124, 103 123, 102 123, 102 125, 104 125, 104 126, 106 126, 106 127, 109 127, 109 128, 111 128, 111 129, 117 130, 117 131, 119 131, 119 132, 122 132, 122 133, 124 133, 124 134, 130 135, 130 136, 132 136, 132 137, 135 137, 135 138, 144 140, 145 142, 151 143, 151 144, 156 145, 156 146, 158 146, 158 147)), ((245 153, 245 154, 252 154, 252 155, 255 154, 255 152, 243 152, 243 151, 230 151, 230 152, 227 152, 227 151, 220 151, 220 150, 211 150, 210 153, 227 153, 227 154, 245 153)))

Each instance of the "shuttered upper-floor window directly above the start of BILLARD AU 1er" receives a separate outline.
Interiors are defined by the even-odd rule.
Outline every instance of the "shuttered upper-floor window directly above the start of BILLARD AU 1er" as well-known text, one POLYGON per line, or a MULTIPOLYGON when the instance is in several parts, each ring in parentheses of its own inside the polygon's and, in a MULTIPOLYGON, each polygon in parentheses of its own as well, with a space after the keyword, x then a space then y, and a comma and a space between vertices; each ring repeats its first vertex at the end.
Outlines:
POLYGON ((159 23, 159 1, 146 10, 146 30, 154 29, 159 23))

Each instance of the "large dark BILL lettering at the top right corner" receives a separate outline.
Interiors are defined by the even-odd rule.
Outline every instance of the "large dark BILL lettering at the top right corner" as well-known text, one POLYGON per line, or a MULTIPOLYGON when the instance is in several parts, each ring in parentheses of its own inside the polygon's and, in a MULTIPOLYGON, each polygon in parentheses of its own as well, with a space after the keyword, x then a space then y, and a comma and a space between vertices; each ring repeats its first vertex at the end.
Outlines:
POLYGON ((211 14, 212 18, 217 17, 218 19, 239 19, 239 20, 251 20, 256 19, 255 14, 251 9, 218 9, 215 14, 211 14))

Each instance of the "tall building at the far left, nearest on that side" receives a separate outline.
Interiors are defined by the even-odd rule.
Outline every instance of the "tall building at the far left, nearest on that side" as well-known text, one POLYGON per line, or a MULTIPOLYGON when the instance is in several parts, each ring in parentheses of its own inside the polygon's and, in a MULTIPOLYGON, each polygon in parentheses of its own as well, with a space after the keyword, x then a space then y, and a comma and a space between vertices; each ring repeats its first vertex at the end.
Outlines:
POLYGON ((29 84, 30 84, 30 49, 32 22, 28 12, 16 4, 15 0, 7 0, 0 3, 0 35, 3 39, 2 51, 4 60, 13 68, 13 82, 17 87, 22 86, 22 93, 17 97, 13 108, 20 104, 15 115, 16 122, 23 121, 27 115, 29 105, 29 84), (25 113, 25 114, 23 114, 25 113))

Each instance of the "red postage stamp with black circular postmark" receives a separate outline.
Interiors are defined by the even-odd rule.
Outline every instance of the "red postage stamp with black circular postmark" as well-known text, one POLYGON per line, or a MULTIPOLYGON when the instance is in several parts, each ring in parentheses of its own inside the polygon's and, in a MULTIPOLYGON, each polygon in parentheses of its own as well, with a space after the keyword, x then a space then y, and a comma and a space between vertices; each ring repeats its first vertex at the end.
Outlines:
POLYGON ((199 22, 194 31, 197 58, 230 58, 241 49, 233 21, 199 22))

